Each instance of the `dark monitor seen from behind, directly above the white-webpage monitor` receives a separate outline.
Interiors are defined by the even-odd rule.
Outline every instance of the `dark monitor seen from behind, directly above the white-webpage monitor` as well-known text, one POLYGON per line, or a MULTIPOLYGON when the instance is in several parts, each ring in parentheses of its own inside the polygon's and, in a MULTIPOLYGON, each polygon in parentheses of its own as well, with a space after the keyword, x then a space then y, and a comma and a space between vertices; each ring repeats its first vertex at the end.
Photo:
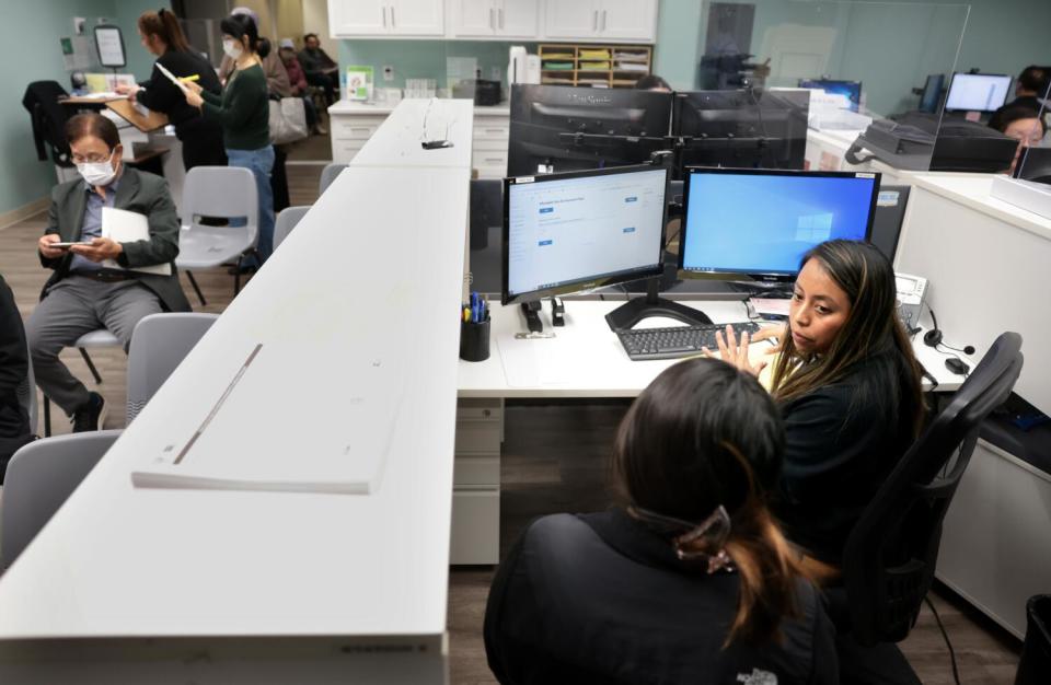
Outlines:
POLYGON ((507 173, 529 176, 648 162, 670 149, 671 93, 511 86, 507 173))

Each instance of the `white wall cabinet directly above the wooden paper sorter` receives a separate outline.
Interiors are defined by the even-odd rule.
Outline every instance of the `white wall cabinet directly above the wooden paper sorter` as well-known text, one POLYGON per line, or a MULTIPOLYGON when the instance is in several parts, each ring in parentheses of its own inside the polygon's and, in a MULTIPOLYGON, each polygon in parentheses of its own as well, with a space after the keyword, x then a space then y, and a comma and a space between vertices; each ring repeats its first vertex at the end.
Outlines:
POLYGON ((657 0, 547 0, 544 37, 657 42, 657 0))

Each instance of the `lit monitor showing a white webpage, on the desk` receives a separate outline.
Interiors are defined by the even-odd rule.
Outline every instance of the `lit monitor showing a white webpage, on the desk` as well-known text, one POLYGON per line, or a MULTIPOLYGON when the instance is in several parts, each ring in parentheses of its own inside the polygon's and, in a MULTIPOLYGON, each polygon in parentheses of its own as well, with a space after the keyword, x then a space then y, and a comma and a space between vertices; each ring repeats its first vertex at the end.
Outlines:
POLYGON ((504 304, 662 274, 666 167, 504 183, 504 304))

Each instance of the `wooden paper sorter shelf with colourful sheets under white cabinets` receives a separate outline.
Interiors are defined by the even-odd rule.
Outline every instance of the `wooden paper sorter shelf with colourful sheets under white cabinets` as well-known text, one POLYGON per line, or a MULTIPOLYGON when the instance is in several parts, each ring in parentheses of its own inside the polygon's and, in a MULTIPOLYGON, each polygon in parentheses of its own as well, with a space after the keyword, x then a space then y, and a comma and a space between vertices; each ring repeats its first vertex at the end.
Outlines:
POLYGON ((652 72, 654 48, 649 45, 543 44, 539 54, 540 82, 550 85, 634 88, 652 72), (565 67, 552 69, 553 65, 565 67), (635 68, 624 69, 627 65, 635 68))

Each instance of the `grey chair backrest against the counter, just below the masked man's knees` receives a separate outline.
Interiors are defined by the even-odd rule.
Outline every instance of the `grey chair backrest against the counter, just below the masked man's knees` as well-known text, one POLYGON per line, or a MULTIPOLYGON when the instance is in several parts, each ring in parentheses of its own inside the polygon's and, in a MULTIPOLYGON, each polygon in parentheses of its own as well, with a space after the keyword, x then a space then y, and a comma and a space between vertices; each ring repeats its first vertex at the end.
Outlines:
POLYGON ((127 423, 218 318, 218 314, 169 312, 150 314, 136 324, 128 347, 127 423))

